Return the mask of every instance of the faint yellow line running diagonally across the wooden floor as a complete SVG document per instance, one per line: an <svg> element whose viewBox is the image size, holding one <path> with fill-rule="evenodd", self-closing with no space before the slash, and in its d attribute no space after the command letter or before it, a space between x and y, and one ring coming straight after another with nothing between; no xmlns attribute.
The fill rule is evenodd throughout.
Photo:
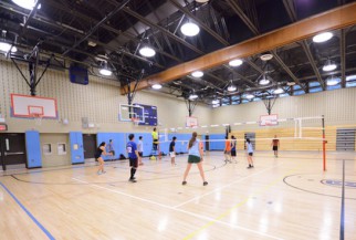
<svg viewBox="0 0 356 240"><path fill-rule="evenodd" d="M281 181L281 179L283 179L286 175L291 175L291 174L295 174L296 170L299 170L301 167L289 170L285 175L283 175L283 177L278 177L275 180L273 180L271 184L269 184L268 186L264 186L261 190L258 190L253 194L251 194L249 197L247 197L245 199L243 199L242 201L238 202L237 205L234 205L233 207L229 208L228 210L223 211L221 215L219 215L218 217L213 218L211 221L209 221L208 223L206 223L205 226L202 226L201 228L197 229L196 231L189 233L187 237L184 238L184 240L189 240L192 239L193 237L196 237L199 232L201 232L202 230L206 230L207 228L211 227L212 225L214 225L217 221L220 221L221 219L223 219L224 217L227 217L231 211L240 208L241 206L243 206L244 204L247 204L250 198L256 196L256 195L262 195L265 194L270 188L274 187L276 184L279 184Z"/></svg>

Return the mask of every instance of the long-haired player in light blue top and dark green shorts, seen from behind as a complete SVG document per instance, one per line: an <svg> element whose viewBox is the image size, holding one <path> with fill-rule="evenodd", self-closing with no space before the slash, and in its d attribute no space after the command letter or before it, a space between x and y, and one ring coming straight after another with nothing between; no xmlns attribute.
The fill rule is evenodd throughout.
<svg viewBox="0 0 356 240"><path fill-rule="evenodd" d="M191 135L191 138L189 140L189 144L188 144L188 154L189 154L189 156L188 156L188 165L187 165L187 169L185 171L184 180L182 180L181 184L187 185L187 176L189 174L191 165L197 164L199 173L200 173L200 176L202 178L202 185L207 186L208 181L206 181L206 177L205 177L203 169L202 169L203 150L202 150L202 145L201 145L200 140L197 138L197 136L198 136L197 133L193 132L192 135Z"/></svg>

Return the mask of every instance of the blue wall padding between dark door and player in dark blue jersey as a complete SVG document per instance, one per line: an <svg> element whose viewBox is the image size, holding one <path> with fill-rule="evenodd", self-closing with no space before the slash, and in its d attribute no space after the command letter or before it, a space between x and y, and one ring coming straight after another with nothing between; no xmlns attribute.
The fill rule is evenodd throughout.
<svg viewBox="0 0 356 240"><path fill-rule="evenodd" d="M100 145L102 142L105 142L107 145L109 139L113 139L114 143L115 156L103 156L104 160L117 159L121 154L127 157L126 143L128 142L128 138L126 136L128 136L128 134L125 133L97 133L97 145ZM107 147L106 150L108 150Z"/></svg>

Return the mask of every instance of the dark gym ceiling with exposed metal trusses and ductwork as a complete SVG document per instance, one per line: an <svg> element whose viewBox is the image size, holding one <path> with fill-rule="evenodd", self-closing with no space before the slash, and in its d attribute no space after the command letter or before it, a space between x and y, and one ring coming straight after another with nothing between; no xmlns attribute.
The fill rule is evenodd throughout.
<svg viewBox="0 0 356 240"><path fill-rule="evenodd" d="M98 74L102 60L107 60L117 80L126 84L138 79L142 70L147 76L349 2L354 1L42 0L41 9L31 13L11 0L2 0L0 29L7 30L7 41L21 49L15 53L18 58L41 42L42 53L55 53L66 67L70 63L82 64ZM197 36L187 38L179 31L187 19L200 25ZM154 58L139 55L138 49L145 43L155 48ZM219 105L226 105L245 102L244 93L269 95L278 85L289 95L299 94L300 88L304 93L335 88L326 86L328 75L355 73L356 28L335 31L326 43L305 40L269 53L274 58L268 62L261 61L260 54L253 55L239 67L214 67L205 71L201 79L186 76L161 91L182 97L196 92L207 104L219 98ZM327 59L338 67L324 74L321 67ZM272 83L262 87L258 80L264 72ZM227 92L230 81L238 86L234 93ZM297 85L289 86L289 82ZM341 81L339 87L345 86L346 81Z"/></svg>

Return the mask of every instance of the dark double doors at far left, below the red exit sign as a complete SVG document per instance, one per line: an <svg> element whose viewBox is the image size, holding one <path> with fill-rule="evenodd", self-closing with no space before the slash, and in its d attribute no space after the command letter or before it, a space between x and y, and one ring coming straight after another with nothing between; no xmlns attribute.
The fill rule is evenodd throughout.
<svg viewBox="0 0 356 240"><path fill-rule="evenodd" d="M3 170L9 165L25 166L24 134L0 134L0 161Z"/></svg>

